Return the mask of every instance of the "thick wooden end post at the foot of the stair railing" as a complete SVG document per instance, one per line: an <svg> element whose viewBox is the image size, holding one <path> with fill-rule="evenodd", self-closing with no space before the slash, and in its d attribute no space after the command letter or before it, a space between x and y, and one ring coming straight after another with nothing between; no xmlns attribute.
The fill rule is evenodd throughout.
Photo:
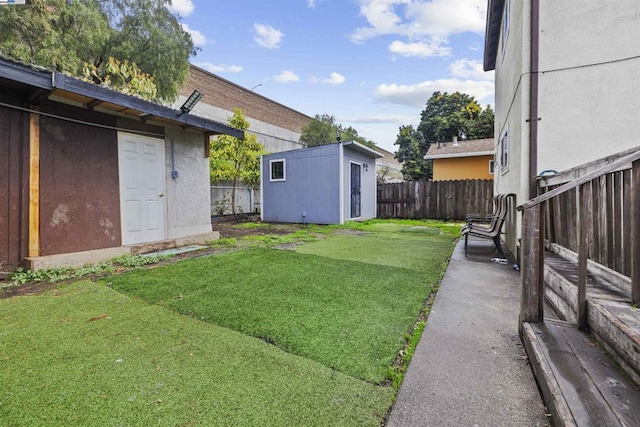
<svg viewBox="0 0 640 427"><path fill-rule="evenodd" d="M544 315L544 204L522 217L522 297L520 322L542 322Z"/></svg>

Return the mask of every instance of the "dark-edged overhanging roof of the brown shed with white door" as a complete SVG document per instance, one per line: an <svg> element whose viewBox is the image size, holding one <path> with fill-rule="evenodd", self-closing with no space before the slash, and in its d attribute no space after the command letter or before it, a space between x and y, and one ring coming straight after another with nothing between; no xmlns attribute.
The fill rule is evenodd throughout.
<svg viewBox="0 0 640 427"><path fill-rule="evenodd" d="M212 135L231 135L244 138L244 132L231 126L125 95L45 68L25 64L0 56L0 85L27 94L30 104L52 97L84 108L103 111L141 121L153 120L197 129Z"/></svg>

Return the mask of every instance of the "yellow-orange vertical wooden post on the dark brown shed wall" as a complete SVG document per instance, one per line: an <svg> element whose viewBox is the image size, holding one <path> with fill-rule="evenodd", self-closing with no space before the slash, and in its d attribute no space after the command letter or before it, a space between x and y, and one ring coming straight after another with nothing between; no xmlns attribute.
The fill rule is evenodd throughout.
<svg viewBox="0 0 640 427"><path fill-rule="evenodd" d="M40 256L40 115L37 112L29 114L29 256Z"/></svg>

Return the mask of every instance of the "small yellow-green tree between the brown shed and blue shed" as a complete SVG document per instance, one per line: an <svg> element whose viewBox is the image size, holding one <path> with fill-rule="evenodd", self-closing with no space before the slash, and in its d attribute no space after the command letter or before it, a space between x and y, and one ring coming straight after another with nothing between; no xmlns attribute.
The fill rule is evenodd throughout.
<svg viewBox="0 0 640 427"><path fill-rule="evenodd" d="M230 180L233 182L231 190L231 212L237 219L236 186L238 182L256 187L260 182L260 158L264 147L257 141L255 135L247 133L249 122L236 108L233 116L227 120L229 125L245 131L244 139L229 135L220 135L211 142L209 168L211 182Z"/></svg>

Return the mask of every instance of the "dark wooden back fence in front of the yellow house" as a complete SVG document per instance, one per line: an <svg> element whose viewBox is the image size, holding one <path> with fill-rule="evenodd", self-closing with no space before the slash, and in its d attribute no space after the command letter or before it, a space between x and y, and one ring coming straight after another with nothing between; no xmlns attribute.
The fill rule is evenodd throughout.
<svg viewBox="0 0 640 427"><path fill-rule="evenodd" d="M493 210L493 180L407 181L378 185L378 218L464 219Z"/></svg>

